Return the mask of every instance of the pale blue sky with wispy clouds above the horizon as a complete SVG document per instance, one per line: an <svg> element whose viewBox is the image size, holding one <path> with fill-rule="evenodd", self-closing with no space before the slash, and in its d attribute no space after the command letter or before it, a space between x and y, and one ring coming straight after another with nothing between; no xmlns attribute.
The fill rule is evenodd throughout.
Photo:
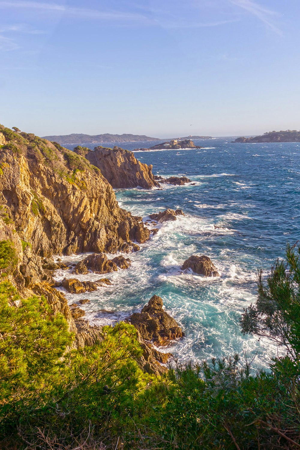
<svg viewBox="0 0 300 450"><path fill-rule="evenodd" d="M0 123L36 135L300 129L299 0L0 0Z"/></svg>

